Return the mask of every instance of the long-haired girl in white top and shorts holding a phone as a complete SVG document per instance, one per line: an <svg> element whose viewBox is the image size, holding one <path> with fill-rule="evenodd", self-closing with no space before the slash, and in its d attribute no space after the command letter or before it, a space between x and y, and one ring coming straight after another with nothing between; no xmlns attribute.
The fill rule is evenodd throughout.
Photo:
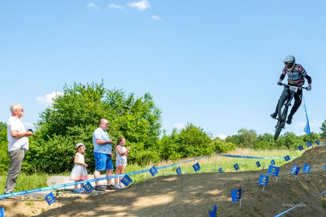
<svg viewBox="0 0 326 217"><path fill-rule="evenodd" d="M130 145L126 148L126 139L119 137L116 145L116 175L124 174L124 170L127 166L127 157L129 154ZM119 182L123 177L119 177ZM119 184L118 177L114 178L115 187L118 189L123 188L122 184Z"/></svg>

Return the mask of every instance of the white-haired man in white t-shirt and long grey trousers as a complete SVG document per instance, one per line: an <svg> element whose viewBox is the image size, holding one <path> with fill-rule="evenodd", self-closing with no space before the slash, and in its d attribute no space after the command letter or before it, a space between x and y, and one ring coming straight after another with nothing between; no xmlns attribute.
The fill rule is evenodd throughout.
<svg viewBox="0 0 326 217"><path fill-rule="evenodd" d="M19 104L10 106L11 117L7 123L8 152L10 156L10 167L5 185L5 194L12 193L16 185L16 179L20 173L21 163L25 156L25 151L29 149L29 136L31 131L27 131L20 121L24 116L24 110ZM20 197L12 196L8 199L17 200Z"/></svg>

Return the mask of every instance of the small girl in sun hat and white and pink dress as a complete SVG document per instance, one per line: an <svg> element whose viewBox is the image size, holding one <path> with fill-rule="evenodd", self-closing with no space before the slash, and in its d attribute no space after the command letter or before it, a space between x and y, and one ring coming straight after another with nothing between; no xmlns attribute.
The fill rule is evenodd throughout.
<svg viewBox="0 0 326 217"><path fill-rule="evenodd" d="M87 170L86 167L88 167L87 164L85 164L85 152L86 146L82 142L78 142L76 144L76 154L75 154L75 165L73 166L71 173L70 173L70 180L74 181L84 181L88 179ZM83 190L83 183L80 184L80 189L78 189L78 184L75 184L75 191L74 193L84 193Z"/></svg>

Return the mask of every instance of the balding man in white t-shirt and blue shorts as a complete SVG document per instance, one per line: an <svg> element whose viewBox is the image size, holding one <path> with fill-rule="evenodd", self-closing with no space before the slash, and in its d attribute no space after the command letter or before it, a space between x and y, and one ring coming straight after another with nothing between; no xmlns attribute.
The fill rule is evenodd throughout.
<svg viewBox="0 0 326 217"><path fill-rule="evenodd" d="M110 139L106 130L108 128L108 121L106 119L100 120L99 127L93 133L93 145L94 145L94 157L95 157L95 171L94 178L99 178L101 171L105 171L106 176L111 176L113 172L112 163L112 143L113 140ZM107 185L106 190L117 189L113 184L111 178L106 179ZM96 191L105 191L101 187L99 181L95 181Z"/></svg>

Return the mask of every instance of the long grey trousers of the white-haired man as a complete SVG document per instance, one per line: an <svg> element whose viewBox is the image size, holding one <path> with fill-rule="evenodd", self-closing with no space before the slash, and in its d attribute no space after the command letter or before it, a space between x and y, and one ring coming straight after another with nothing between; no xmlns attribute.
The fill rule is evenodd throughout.
<svg viewBox="0 0 326 217"><path fill-rule="evenodd" d="M25 157L25 150L19 148L17 150L9 151L9 156L10 167L5 185L5 194L12 193L14 191L16 180L20 173L21 163Z"/></svg>

